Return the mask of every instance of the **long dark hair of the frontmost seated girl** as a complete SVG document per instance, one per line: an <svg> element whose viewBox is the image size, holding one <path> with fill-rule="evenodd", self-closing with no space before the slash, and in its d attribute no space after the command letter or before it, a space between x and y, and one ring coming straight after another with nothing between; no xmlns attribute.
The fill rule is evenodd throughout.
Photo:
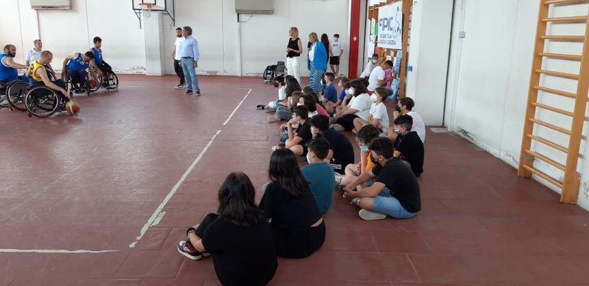
<svg viewBox="0 0 589 286"><path fill-rule="evenodd" d="M255 189L243 172L232 172L227 176L218 192L217 213L233 224L252 226L262 218L262 210L253 203Z"/></svg>

